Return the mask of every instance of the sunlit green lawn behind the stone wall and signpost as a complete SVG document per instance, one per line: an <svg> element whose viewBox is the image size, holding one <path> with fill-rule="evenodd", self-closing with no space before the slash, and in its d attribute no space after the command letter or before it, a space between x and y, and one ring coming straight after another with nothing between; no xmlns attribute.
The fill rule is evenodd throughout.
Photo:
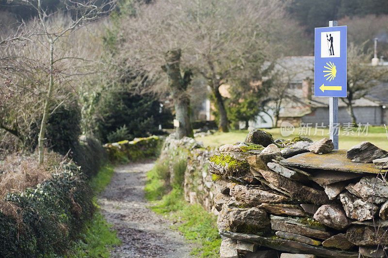
<svg viewBox="0 0 388 258"><path fill-rule="evenodd" d="M361 128L362 130L364 127ZM295 136L306 136L306 128L295 128L295 131L293 134L291 134L288 137L283 137L280 134L280 128L273 128L273 129L265 129L267 132L270 132L274 138L283 138L283 139L291 139ZM360 143L361 141L370 141L374 145L388 150L388 139L386 135L386 131L384 126L370 126L368 128L367 135L366 132L361 132L358 136L358 133L356 132L357 128L353 129L353 132L350 132L349 134L347 132L343 131L343 128L340 128L340 134L339 134L339 149L347 150L350 147ZM361 130L361 131L362 131ZM307 134L308 137L312 138L313 140L319 140L323 137L328 137L329 130L324 129L323 135L322 132L318 129L315 130L315 128L311 128L310 133ZM354 135L352 135L352 133ZM229 133L220 133L217 132L213 135L205 136L205 137L196 137L195 139L197 141L202 141L205 146L219 146L223 144L233 144L238 141L243 141L248 134L247 130L233 130ZM314 135L315 134L315 135Z"/></svg>

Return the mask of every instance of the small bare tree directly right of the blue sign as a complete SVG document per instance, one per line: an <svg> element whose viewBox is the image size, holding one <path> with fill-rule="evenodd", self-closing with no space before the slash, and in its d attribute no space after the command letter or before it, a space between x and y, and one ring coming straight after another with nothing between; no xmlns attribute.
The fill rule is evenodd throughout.
<svg viewBox="0 0 388 258"><path fill-rule="evenodd" d="M356 124L353 111L354 101L368 94L379 81L387 81L388 70L385 67L371 66L371 53L364 53L364 44L348 47L347 97L341 98L346 104L352 123Z"/></svg>

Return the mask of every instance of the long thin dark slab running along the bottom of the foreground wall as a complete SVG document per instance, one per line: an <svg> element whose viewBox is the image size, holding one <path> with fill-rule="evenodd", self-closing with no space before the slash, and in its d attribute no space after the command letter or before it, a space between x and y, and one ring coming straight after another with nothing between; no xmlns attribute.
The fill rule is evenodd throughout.
<svg viewBox="0 0 388 258"><path fill-rule="evenodd" d="M325 247L312 246L306 243L276 238L266 238L258 235L234 233L227 230L220 231L220 235L244 242L258 243L259 246L295 254L312 254L328 258L358 258L358 252L333 250Z"/></svg>

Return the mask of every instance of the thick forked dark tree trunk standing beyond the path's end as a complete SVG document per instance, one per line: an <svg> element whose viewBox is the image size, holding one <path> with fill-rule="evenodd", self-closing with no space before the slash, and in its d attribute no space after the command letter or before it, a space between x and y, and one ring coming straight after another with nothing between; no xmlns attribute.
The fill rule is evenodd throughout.
<svg viewBox="0 0 388 258"><path fill-rule="evenodd" d="M162 67L168 76L168 85L174 100L175 118L179 121L179 126L176 129L178 139L194 136L189 116L190 99L186 92L191 81L191 72L186 71L182 77L180 56L180 49L168 51L165 56L166 64Z"/></svg>

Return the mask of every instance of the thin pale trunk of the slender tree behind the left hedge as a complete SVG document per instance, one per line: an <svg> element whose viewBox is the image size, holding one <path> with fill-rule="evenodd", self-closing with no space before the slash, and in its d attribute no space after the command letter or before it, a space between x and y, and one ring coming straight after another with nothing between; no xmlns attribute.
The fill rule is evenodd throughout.
<svg viewBox="0 0 388 258"><path fill-rule="evenodd" d="M50 42L49 91L47 92L45 106L43 107L43 118L40 124L40 131L39 131L39 137L38 137L39 164L43 164L44 157L45 157L44 141L45 141L46 123L47 123L47 120L49 119L49 105L50 105L49 102L54 88L54 75L52 74L52 65L54 62L54 59L53 59L54 43L52 42L52 40L50 40L49 42Z"/></svg>

